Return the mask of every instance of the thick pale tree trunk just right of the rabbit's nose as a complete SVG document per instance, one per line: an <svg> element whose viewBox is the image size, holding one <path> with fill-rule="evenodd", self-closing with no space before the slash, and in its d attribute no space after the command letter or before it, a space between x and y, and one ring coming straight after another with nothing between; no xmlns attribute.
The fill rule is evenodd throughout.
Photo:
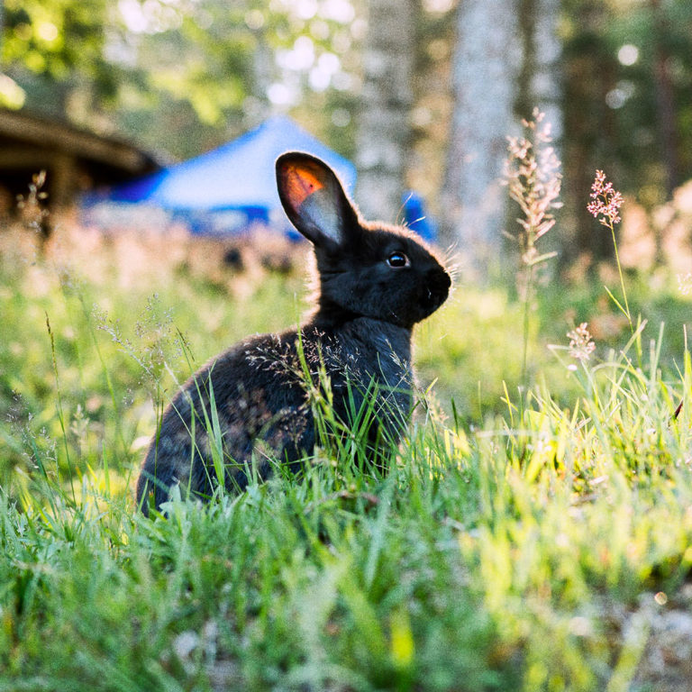
<svg viewBox="0 0 692 692"><path fill-rule="evenodd" d="M513 122L515 15L514 0L463 0L457 10L442 241L481 261L499 249L505 222L500 178Z"/></svg>

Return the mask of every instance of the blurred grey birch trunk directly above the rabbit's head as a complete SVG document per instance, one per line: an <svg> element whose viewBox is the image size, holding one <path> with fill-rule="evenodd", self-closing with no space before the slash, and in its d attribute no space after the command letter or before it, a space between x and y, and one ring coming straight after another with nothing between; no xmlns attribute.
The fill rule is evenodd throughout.
<svg viewBox="0 0 692 692"><path fill-rule="evenodd" d="M366 218L396 222L411 146L414 0L369 0L358 115L356 201Z"/></svg>

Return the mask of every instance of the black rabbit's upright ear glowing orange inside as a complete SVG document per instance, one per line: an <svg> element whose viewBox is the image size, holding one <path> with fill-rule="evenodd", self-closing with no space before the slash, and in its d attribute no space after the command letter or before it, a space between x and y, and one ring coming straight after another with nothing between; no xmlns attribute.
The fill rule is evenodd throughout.
<svg viewBox="0 0 692 692"><path fill-rule="evenodd" d="M289 151L277 159L277 187L288 218L308 241L318 247L344 243L357 215L332 168Z"/></svg>

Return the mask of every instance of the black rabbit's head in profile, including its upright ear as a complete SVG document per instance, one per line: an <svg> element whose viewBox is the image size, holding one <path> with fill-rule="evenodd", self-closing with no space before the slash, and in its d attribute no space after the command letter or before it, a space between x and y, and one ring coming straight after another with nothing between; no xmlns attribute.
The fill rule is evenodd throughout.
<svg viewBox="0 0 692 692"><path fill-rule="evenodd" d="M445 301L451 279L442 260L405 228L362 221L322 160L282 154L277 185L291 223L314 245L323 319L365 316L412 327Z"/></svg>

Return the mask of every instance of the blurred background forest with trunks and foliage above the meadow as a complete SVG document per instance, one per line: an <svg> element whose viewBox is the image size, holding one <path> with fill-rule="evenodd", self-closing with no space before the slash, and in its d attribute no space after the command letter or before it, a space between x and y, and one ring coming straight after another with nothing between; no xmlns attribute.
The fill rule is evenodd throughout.
<svg viewBox="0 0 692 692"><path fill-rule="evenodd" d="M445 244L499 247L505 136L534 106L565 162L563 266L612 252L596 168L636 202L646 269L692 178L687 0L5 0L1 36L6 108L164 163L287 113L356 163L366 215L394 221L413 188Z"/></svg>

